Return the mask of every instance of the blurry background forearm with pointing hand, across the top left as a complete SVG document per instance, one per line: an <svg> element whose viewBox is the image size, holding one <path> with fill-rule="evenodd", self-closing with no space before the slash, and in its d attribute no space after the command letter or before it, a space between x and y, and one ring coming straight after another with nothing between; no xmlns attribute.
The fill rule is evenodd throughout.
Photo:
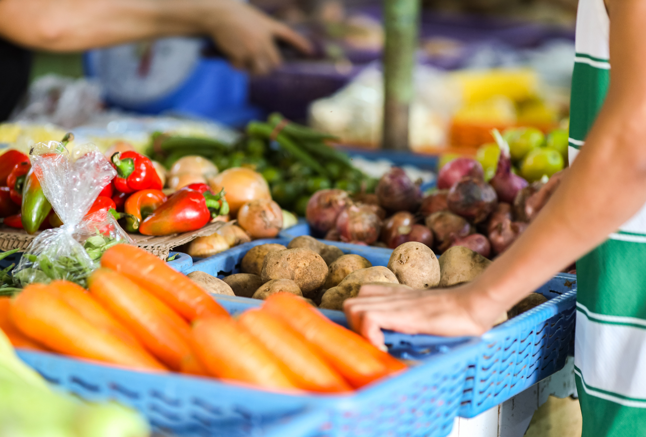
<svg viewBox="0 0 646 437"><path fill-rule="evenodd" d="M234 66L264 73L280 63L274 39L308 52L286 25L238 0L0 0L0 36L52 51L163 36L211 36Z"/></svg>

